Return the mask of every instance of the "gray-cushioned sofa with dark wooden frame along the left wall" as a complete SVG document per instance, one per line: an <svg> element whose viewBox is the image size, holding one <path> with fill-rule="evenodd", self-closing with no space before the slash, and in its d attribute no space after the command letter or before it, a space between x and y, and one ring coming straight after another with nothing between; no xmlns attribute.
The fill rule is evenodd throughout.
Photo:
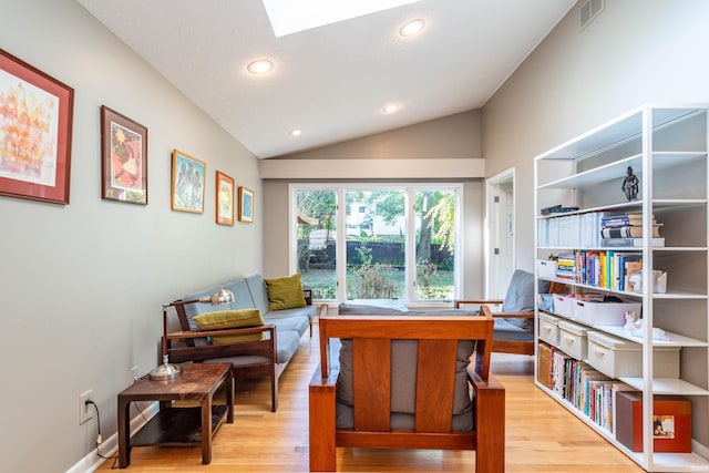
<svg viewBox="0 0 709 473"><path fill-rule="evenodd" d="M237 278L218 286L187 294L182 300L199 299L201 297L209 296L222 288L228 289L234 294L234 302L223 306L210 306L208 304L175 306L181 329L183 331L199 331L199 327L194 320L194 317L202 313L249 308L258 309L264 317L264 327L273 326L275 328L273 331L274 357L269 356L268 351L259 352L251 350L253 353L256 354L245 351L243 354L214 357L201 359L198 361L212 363L230 362L234 366L234 374L237 380L270 376L271 410L275 412L277 410L278 399L278 378L298 350L300 338L304 333L309 330L310 336L312 336L312 321L316 318L317 308L312 305L306 305L306 307L296 309L269 310L268 294L261 275ZM308 299L309 298L306 300L309 301ZM209 339L191 339L188 345L209 345ZM244 345L246 346L247 343ZM275 360L271 361L271 358L275 358Z"/></svg>

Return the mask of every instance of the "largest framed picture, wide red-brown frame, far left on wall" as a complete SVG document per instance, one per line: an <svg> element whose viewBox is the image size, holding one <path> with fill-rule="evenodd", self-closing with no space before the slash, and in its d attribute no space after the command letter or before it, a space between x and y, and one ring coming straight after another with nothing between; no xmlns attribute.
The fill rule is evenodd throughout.
<svg viewBox="0 0 709 473"><path fill-rule="evenodd" d="M74 90L0 49L0 195L69 204Z"/></svg>

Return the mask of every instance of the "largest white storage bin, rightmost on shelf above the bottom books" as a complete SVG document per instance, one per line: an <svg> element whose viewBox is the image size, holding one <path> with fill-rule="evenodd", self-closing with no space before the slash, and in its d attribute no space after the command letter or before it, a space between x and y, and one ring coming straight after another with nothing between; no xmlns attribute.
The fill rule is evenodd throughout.
<svg viewBox="0 0 709 473"><path fill-rule="evenodd" d="M589 330L588 364L612 378L643 377L643 346L607 333ZM679 348L655 347L653 376L679 378Z"/></svg>

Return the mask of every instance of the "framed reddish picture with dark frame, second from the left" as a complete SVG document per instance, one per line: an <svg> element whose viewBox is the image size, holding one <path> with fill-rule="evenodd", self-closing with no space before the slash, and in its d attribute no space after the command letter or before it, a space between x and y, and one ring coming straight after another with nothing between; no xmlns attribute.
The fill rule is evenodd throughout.
<svg viewBox="0 0 709 473"><path fill-rule="evenodd" d="M147 128L101 106L101 197L147 205Z"/></svg>

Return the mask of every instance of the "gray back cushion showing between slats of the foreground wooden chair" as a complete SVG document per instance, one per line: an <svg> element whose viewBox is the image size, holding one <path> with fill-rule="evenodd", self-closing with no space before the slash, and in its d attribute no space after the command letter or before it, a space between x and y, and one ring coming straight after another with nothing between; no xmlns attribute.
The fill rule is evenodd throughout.
<svg viewBox="0 0 709 473"><path fill-rule="evenodd" d="M353 405L352 340L342 339L340 343L337 400ZM453 414L465 412L472 408L466 368L474 348L475 342L471 340L458 343ZM417 340L392 340L391 342L391 412L415 413L418 351L419 342Z"/></svg>

